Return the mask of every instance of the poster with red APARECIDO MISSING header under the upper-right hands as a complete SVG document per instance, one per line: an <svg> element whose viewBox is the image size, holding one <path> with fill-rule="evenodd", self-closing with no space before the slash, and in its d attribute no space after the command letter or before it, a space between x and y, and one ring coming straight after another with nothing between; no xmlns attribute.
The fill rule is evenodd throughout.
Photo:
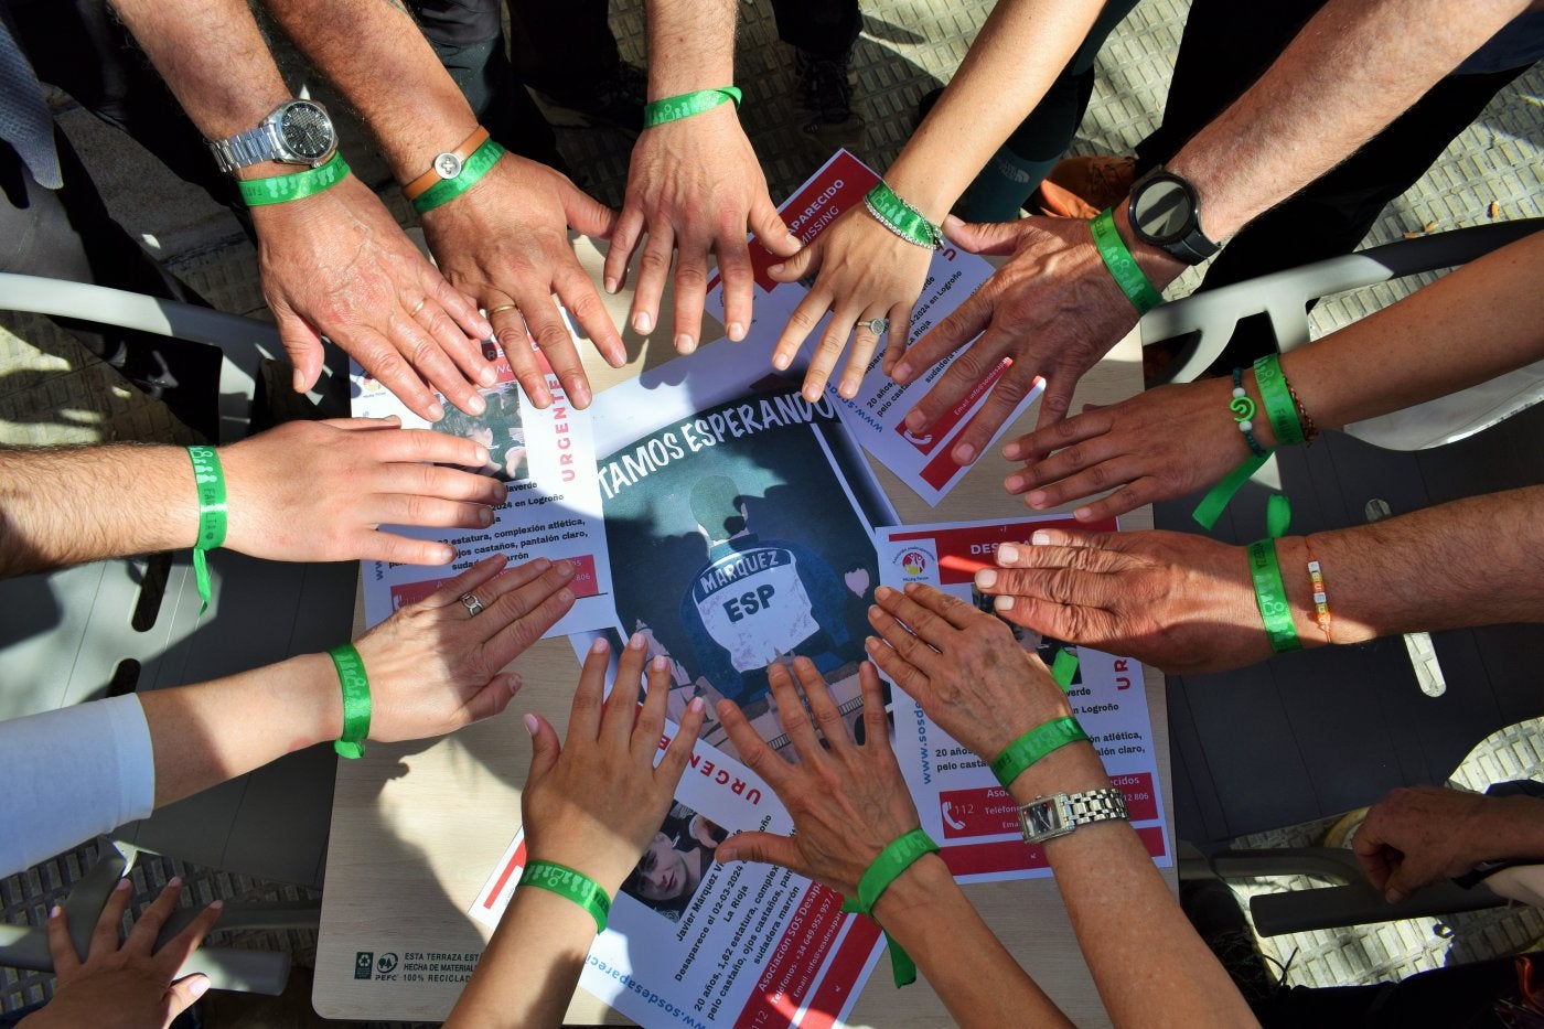
<svg viewBox="0 0 1544 1029"><path fill-rule="evenodd" d="M798 236L801 244L809 246L837 215L862 209L863 195L879 181L879 175L872 168L846 150L840 150L778 212L781 212L783 221L787 222L789 232ZM858 216L868 215L863 213ZM750 256L757 289L755 318L746 345L764 341L770 346L781 335L789 315L794 314L804 298L809 281L777 283L766 270L777 258L760 246L750 247ZM991 277L991 264L973 253L951 246L937 250L928 269L928 280L911 312L908 348L916 345L929 329L965 303ZM715 277L710 286L709 303L723 314L723 284ZM826 320L821 320L809 334L803 354L814 349L824 326ZM831 385L826 386L826 397L835 405L841 420L865 450L900 476L900 481L911 487L917 496L928 504L937 504L970 470L970 465L957 464L950 453L954 450L954 443L965 431L965 426L985 405L987 394L991 392L991 388L1008 369L1008 362L1004 360L993 368L954 408L946 411L922 434L913 434L905 423L906 413L937 385L943 372L954 363L954 357L965 348L962 346L954 354L943 357L914 382L903 386L891 380L880 366L885 357L883 345L888 341L886 338L882 341L882 346L875 348L874 355L869 358L868 371L863 375L863 383L852 400L841 399L835 389L835 383L840 382L840 369L846 363L846 355L843 354ZM795 363L795 368L801 366ZM1034 389L1030 391L1004 422L1004 428L1011 425L1039 397L1042 383L1039 380L1036 383ZM997 431L997 436L1001 434L1002 430Z"/></svg>

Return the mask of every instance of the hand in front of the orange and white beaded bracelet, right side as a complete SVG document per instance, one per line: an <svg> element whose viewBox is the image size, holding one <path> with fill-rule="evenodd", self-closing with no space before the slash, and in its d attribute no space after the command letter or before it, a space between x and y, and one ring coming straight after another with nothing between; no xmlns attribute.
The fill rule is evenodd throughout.
<svg viewBox="0 0 1544 1029"><path fill-rule="evenodd" d="M1271 657L1249 556L1194 533L1036 528L1028 547L997 547L997 567L977 572L976 589L1017 626L1164 672L1221 672Z"/></svg>

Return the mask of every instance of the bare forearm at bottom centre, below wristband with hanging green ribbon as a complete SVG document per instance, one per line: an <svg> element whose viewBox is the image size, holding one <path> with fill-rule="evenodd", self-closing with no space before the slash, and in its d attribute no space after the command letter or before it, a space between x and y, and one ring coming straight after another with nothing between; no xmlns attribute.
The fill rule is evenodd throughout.
<svg viewBox="0 0 1544 1029"><path fill-rule="evenodd" d="M874 918L917 963L956 1023L1070 1024L980 921L937 856L902 873L874 905Z"/></svg>

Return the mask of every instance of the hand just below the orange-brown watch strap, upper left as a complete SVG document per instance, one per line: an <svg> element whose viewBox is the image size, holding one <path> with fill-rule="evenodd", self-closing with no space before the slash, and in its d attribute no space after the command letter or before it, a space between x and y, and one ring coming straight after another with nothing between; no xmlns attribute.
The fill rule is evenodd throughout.
<svg viewBox="0 0 1544 1029"><path fill-rule="evenodd" d="M539 408L548 406L553 396L527 329L573 405L587 408L591 399L590 380L553 294L611 368L627 360L622 337L568 244L570 226L605 238L613 224L611 212L565 175L513 153L503 155L474 188L423 216L423 235L445 277L488 312L491 335Z"/></svg>

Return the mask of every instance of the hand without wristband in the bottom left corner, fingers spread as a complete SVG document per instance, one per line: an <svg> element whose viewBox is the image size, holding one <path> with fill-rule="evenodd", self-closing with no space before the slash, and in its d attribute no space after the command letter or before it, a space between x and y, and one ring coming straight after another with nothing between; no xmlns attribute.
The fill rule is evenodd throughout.
<svg viewBox="0 0 1544 1029"><path fill-rule="evenodd" d="M117 930L134 895L128 879L119 879L113 887L91 933L85 961L76 953L69 939L69 919L63 908L54 907L49 912L48 952L54 958L59 987L43 1010L22 1020L26 1029L165 1027L208 990L207 975L185 975L181 980L174 976L213 929L222 902L215 901L205 907L182 932L156 947L161 927L176 910L178 895L182 891L182 881L171 879L119 946Z"/></svg>

